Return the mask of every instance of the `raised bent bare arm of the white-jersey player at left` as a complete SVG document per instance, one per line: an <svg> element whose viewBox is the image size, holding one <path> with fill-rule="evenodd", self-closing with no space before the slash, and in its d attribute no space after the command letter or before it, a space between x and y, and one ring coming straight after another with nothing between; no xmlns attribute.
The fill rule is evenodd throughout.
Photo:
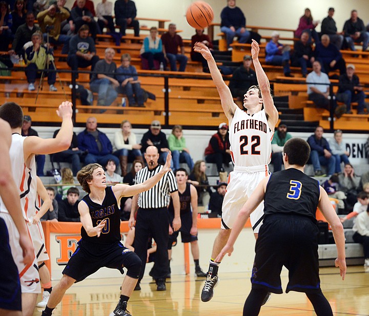
<svg viewBox="0 0 369 316"><path fill-rule="evenodd" d="M73 136L72 103L68 101L61 103L56 113L63 120L60 131L54 139L26 137L23 145L25 161L31 154L50 154L67 150L70 147Z"/></svg>

